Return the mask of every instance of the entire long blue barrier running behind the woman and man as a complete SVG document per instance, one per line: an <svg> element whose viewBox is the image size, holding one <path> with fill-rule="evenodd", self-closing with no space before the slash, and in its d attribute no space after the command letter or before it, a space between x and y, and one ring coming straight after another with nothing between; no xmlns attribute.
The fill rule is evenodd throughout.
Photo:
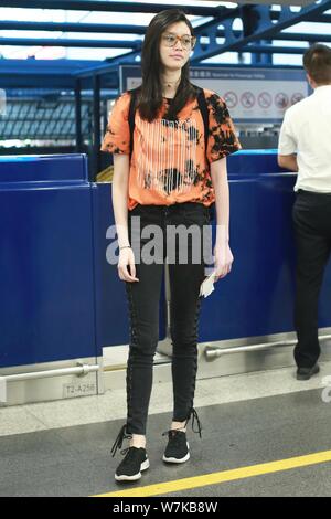
<svg viewBox="0 0 331 519"><path fill-rule="evenodd" d="M293 173L275 150L228 158L234 265L203 301L200 341L292 331ZM117 265L106 261L111 184L81 155L0 158L0 367L100 357L129 340ZM213 229L213 232L215 229ZM160 339L166 337L164 285ZM331 268L320 326L331 326Z"/></svg>

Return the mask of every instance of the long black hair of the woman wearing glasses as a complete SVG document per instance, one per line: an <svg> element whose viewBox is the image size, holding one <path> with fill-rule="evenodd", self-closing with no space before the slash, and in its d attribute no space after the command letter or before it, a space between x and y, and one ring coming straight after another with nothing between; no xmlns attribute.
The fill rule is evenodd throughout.
<svg viewBox="0 0 331 519"><path fill-rule="evenodd" d="M169 25L177 22L186 23L191 35L193 27L185 13L179 9L167 9L159 12L150 22L141 50L142 84L137 96L137 108L142 119L151 123L158 116L162 106L161 73L163 65L160 57L160 41ZM177 114L185 106L189 99L196 97L196 88L190 83L189 60L181 70L181 81L175 97L169 106L164 118L174 120Z"/></svg>

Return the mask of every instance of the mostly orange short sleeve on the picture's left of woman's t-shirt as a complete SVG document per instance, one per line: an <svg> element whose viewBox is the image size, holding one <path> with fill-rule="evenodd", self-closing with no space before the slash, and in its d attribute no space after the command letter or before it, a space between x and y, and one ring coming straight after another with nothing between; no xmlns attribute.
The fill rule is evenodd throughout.
<svg viewBox="0 0 331 519"><path fill-rule="evenodd" d="M115 102L109 113L106 134L102 144L102 151L109 153L130 155L130 128L129 128L130 95L122 94Z"/></svg>

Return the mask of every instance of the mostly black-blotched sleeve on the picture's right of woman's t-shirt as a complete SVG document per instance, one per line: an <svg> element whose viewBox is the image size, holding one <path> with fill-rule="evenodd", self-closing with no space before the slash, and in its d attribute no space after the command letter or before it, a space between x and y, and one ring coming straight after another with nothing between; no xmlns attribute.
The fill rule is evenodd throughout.
<svg viewBox="0 0 331 519"><path fill-rule="evenodd" d="M205 92L205 99L210 116L206 157L210 162L214 162L242 149L242 146L225 100L211 91Z"/></svg>

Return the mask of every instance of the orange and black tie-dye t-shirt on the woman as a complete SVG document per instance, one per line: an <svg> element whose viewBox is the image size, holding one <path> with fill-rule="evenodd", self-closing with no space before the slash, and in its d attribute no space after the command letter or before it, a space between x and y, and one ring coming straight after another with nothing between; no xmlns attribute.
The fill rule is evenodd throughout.
<svg viewBox="0 0 331 519"><path fill-rule="evenodd" d="M209 139L205 151L204 123L197 99L190 100L168 120L168 99L152 123L135 115L134 151L129 171L128 209L142 205L170 205L199 202L209 206L215 201L210 162L241 149L225 102L204 89L209 108ZM109 115L103 151L130 155L130 94L117 98Z"/></svg>

